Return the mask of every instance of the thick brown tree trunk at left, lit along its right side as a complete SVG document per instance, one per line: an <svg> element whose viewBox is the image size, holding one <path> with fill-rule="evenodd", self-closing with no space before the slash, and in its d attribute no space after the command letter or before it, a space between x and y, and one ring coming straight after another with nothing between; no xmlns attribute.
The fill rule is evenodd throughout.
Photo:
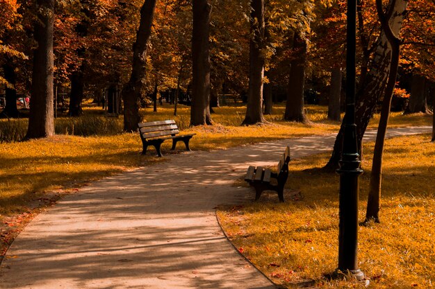
<svg viewBox="0 0 435 289"><path fill-rule="evenodd" d="M35 20L31 107L26 139L54 135L54 0L38 0Z"/></svg>

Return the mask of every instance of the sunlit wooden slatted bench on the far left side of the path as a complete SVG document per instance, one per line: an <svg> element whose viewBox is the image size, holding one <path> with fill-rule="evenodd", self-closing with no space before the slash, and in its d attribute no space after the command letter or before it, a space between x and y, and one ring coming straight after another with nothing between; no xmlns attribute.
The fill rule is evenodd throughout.
<svg viewBox="0 0 435 289"><path fill-rule="evenodd" d="M148 146L156 148L158 157L162 156L160 150L161 144L166 139L172 139L172 148L175 150L177 141L183 141L186 144L186 150L190 150L189 141L195 134L181 134L174 120L169 121L151 121L149 123L138 123L140 139L142 139L142 155L147 153Z"/></svg>

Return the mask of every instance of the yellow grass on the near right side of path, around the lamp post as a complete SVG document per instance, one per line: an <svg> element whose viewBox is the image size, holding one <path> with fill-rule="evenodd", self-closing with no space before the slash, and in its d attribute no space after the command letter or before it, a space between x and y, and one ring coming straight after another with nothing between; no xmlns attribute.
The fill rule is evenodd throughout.
<svg viewBox="0 0 435 289"><path fill-rule="evenodd" d="M364 150L360 216L365 216L373 143ZM217 216L231 242L273 281L315 280L320 288L365 288L366 283L326 281L338 258L338 175L307 170L329 155L290 162L287 186L297 195L227 207ZM429 135L386 141L381 224L359 229L359 266L368 288L432 287L435 281L435 143ZM305 171L304 171L305 170ZM293 286L293 287L292 287Z"/></svg>

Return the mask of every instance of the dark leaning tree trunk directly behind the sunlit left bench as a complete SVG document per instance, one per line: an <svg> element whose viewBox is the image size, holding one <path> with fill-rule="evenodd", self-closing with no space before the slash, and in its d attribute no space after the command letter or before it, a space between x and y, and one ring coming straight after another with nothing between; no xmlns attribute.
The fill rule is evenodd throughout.
<svg viewBox="0 0 435 289"><path fill-rule="evenodd" d="M140 122L139 100L145 82L145 67L156 0L145 0L140 9L140 24L133 44L133 62L129 82L122 89L124 99L124 131L135 132Z"/></svg>

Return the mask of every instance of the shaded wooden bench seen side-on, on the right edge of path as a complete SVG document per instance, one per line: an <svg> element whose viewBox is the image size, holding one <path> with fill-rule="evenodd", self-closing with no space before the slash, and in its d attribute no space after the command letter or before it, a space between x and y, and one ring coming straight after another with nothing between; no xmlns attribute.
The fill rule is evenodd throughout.
<svg viewBox="0 0 435 289"><path fill-rule="evenodd" d="M280 202L284 202L284 185L288 178L288 163L290 162L290 148L287 147L281 160L279 160L277 173L268 168L249 166L245 182L255 189L255 200L258 200L263 191L276 191ZM272 184L272 179L274 183Z"/></svg>

